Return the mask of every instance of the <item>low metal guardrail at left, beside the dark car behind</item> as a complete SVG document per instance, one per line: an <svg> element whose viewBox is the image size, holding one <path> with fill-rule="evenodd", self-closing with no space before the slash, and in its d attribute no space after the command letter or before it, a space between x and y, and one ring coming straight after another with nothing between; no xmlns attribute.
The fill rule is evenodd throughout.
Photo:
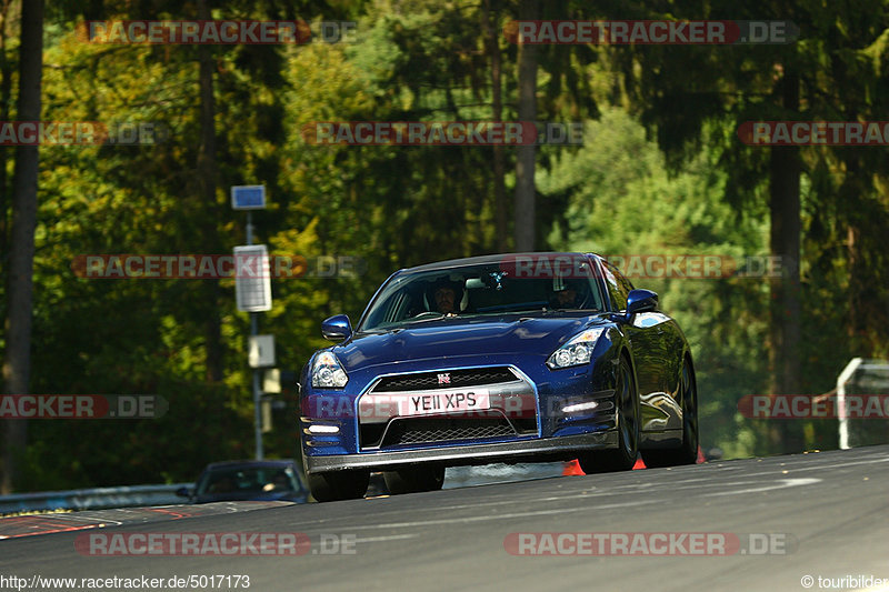
<svg viewBox="0 0 889 592"><path fill-rule="evenodd" d="M172 485L129 485L0 495L0 514L47 510L170 505L186 502L183 498L176 494L176 490L192 486L194 483L174 483Z"/></svg>

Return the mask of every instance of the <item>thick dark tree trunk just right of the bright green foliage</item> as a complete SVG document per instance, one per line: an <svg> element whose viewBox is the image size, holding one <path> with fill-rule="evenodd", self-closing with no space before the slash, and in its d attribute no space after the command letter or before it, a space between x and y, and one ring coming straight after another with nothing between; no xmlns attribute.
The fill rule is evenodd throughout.
<svg viewBox="0 0 889 592"><path fill-rule="evenodd" d="M777 89L785 113L799 111L799 77L787 72ZM800 173L797 147L772 147L769 160L769 213L771 254L779 257L783 273L771 283L770 375L771 392L800 394ZM799 421L782 421L772 430L772 452L803 449Z"/></svg>

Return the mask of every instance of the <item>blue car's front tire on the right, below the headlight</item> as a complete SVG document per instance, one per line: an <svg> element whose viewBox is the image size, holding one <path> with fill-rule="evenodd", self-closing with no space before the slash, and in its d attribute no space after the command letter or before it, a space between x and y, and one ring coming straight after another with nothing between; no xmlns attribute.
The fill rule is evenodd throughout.
<svg viewBox="0 0 889 592"><path fill-rule="evenodd" d="M639 393L630 363L621 355L618 380L615 385L617 407L618 448L596 450L578 456L580 468L587 474L629 471L639 455Z"/></svg>

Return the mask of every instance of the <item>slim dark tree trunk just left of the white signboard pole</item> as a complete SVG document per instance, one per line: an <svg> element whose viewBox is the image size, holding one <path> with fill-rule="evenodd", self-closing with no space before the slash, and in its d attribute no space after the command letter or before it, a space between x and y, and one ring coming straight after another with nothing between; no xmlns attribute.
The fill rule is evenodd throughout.
<svg viewBox="0 0 889 592"><path fill-rule="evenodd" d="M206 0L198 2L198 18L210 20L210 10ZM216 100L213 98L213 54L210 46L199 46L200 60L200 98L201 98L201 147L198 153L198 174L200 177L203 215L203 243L213 249L220 248L218 231L218 208L216 203L217 162L216 162ZM211 305L209 317L204 321L204 342L207 349L207 380L221 382L223 368L222 329L219 320L219 280L206 280L202 287L206 301Z"/></svg>

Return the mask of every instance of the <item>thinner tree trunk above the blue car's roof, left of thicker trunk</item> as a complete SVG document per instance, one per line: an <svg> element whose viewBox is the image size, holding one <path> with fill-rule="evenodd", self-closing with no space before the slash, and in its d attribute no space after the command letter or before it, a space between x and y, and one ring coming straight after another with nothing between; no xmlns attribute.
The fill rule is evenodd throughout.
<svg viewBox="0 0 889 592"><path fill-rule="evenodd" d="M501 74L500 43L497 30L499 21L499 7L491 7L492 0L485 0L482 18L485 20L486 41L488 53L491 56L491 111L493 121L503 120L503 97ZM497 251L503 253L509 248L507 244L507 188L506 188L506 160L503 147L493 146L493 211L495 228L497 233Z"/></svg>

